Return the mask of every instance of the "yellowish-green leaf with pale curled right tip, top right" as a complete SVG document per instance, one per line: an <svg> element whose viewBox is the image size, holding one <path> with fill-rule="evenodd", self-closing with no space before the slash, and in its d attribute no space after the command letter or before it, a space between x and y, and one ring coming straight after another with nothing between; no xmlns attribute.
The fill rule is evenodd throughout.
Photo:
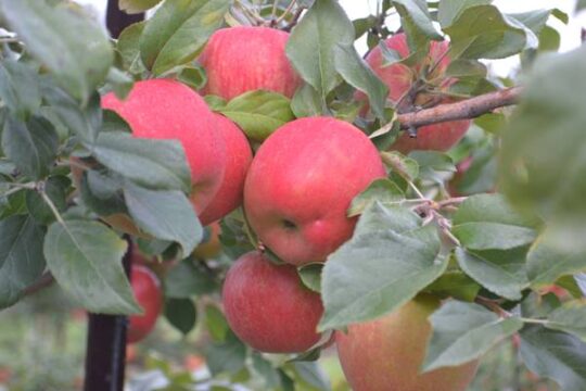
<svg viewBox="0 0 586 391"><path fill-rule="evenodd" d="M446 27L453 59L504 59L532 47L531 33L522 23L507 17L494 5L467 8Z"/></svg>

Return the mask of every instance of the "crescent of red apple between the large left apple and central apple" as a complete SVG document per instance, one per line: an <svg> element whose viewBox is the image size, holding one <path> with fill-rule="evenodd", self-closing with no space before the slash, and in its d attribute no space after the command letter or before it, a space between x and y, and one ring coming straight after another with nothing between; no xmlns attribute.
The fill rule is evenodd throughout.
<svg viewBox="0 0 586 391"><path fill-rule="evenodd" d="M216 127L226 144L226 171L219 190L200 214L206 226L216 222L242 204L244 179L252 162L252 150L242 130L227 117L214 114Z"/></svg>

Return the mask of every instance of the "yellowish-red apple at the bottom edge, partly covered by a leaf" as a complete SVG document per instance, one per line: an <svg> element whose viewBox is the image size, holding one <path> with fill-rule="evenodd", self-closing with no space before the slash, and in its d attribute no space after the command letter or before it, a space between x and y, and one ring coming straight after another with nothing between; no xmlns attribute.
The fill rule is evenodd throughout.
<svg viewBox="0 0 586 391"><path fill-rule="evenodd" d="M354 391L464 391L474 378L477 362L419 375L431 325L428 316L440 305L419 295L380 319L336 331L344 375Z"/></svg>

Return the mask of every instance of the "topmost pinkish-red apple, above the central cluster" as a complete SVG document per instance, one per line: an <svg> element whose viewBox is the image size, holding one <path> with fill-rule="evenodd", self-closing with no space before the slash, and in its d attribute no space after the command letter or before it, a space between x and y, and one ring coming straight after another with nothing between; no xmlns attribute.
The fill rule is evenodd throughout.
<svg viewBox="0 0 586 391"><path fill-rule="evenodd" d="M288 40L288 33L268 27L217 30L199 58L207 74L204 94L230 100L264 89L293 97L302 79L285 55Z"/></svg>

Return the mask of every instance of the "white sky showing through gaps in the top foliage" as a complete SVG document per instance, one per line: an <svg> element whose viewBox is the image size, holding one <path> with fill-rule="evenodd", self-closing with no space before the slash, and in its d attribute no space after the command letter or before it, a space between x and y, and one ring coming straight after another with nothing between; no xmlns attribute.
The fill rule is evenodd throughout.
<svg viewBox="0 0 586 391"><path fill-rule="evenodd" d="M105 18L105 8L107 0L76 0L78 3L91 5L94 8L97 14L101 21ZM370 14L374 14L377 11L378 0L339 0L340 4L344 8L346 13L352 20L365 17ZM493 4L498 7L506 13L526 12L538 9L552 9L559 8L564 11L570 17L570 23L563 25L561 22L555 18L550 18L548 24L556 27L561 33L561 51L569 51L577 48L581 45L581 29L586 27L586 11L582 14L573 15L573 10L576 0L494 0ZM398 26L398 20L388 21L392 26L396 24ZM367 50L366 37L359 40L357 43L359 52L364 53ZM517 58L491 61L488 62L492 71L499 76L507 76L519 63Z"/></svg>

